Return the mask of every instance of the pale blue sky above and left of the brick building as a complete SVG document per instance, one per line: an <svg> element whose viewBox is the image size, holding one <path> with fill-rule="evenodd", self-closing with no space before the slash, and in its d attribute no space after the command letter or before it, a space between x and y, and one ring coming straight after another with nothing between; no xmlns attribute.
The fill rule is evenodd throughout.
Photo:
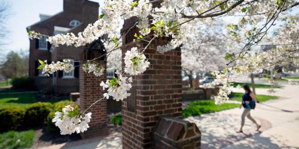
<svg viewBox="0 0 299 149"><path fill-rule="evenodd" d="M63 9L63 0L4 0L10 5L10 16L6 21L7 34L5 46L0 50L1 55L9 51L27 52L29 38L26 27L40 20L39 14L56 14ZM91 0L103 5L104 0ZM100 9L99 9L100 10Z"/></svg>

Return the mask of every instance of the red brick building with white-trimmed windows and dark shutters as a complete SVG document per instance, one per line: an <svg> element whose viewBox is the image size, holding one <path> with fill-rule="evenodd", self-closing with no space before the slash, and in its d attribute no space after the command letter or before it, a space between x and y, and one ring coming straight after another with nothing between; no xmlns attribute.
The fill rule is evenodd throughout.
<svg viewBox="0 0 299 149"><path fill-rule="evenodd" d="M78 33L84 30L89 24L95 22L99 15L99 4L88 0L63 0L63 11L52 16L40 14L40 21L28 26L26 29L34 30L44 35L53 36L56 34L73 32ZM46 41L46 36L41 39L30 40L29 55L29 76L35 78L35 86L39 90L56 93L70 93L79 91L79 67L70 73L63 71L47 77L37 70L38 60L71 61L80 60L80 53L84 47L74 46L51 46ZM86 48L86 47L85 47ZM74 62L75 66L79 63Z"/></svg>

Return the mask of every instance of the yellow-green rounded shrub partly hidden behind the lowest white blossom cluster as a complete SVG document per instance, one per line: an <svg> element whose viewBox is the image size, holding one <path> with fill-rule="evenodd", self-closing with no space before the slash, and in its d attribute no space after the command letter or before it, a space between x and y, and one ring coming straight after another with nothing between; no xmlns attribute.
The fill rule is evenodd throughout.
<svg viewBox="0 0 299 149"><path fill-rule="evenodd" d="M55 124L52 122L52 119L55 116L55 112L56 111L62 111L62 108L64 108L67 105L70 104L76 104L73 101L69 101L69 100L64 100L64 101L59 101L53 104L53 108L51 110L51 112L49 113L49 115L47 116L47 130L49 132L59 132L59 128L55 126ZM78 108L78 106L76 106L76 108Z"/></svg>

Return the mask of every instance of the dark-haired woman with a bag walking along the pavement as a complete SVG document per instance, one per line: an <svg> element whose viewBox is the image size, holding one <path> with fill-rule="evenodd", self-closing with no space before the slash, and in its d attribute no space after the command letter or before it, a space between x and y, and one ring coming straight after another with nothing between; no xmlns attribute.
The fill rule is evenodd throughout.
<svg viewBox="0 0 299 149"><path fill-rule="evenodd" d="M251 108L248 107L248 105L250 104L250 101L254 101L255 103L257 103L257 98L255 96L255 94L250 90L248 85L244 85L243 86L245 93L243 95L243 100L242 103L240 104L240 109L243 106L244 107L244 111L242 113L242 117L241 117L241 128L238 131L238 133L243 133L243 126L245 123L245 117L247 116L248 119L250 119L253 123L256 124L257 126L257 131L259 131L259 129L261 128L261 125L258 125L258 123L251 117L250 115L250 110Z"/></svg>

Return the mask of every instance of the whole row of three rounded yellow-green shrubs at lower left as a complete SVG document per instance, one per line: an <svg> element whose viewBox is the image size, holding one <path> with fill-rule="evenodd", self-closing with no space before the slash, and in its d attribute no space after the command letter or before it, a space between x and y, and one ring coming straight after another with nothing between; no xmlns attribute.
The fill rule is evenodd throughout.
<svg viewBox="0 0 299 149"><path fill-rule="evenodd" d="M62 111L66 105L74 104L75 102L65 100L54 104L49 102L36 102L29 105L27 108L18 106L5 106L0 108L0 131L13 130L19 126L42 126L47 125L50 132L59 132L58 127L54 125L52 119L56 111ZM79 108L77 105L75 108Z"/></svg>

